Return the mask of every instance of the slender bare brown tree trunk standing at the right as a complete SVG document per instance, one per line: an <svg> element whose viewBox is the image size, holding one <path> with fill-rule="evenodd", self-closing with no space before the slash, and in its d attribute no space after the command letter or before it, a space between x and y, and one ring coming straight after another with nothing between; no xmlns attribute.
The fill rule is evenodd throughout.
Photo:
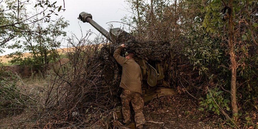
<svg viewBox="0 0 258 129"><path fill-rule="evenodd" d="M229 27L228 27L228 46L230 53L230 61L232 65L232 76L231 76L231 105L232 105L232 116L235 122L237 121L238 109L236 99L236 80L237 80L237 63L235 57L234 43L233 43L233 0L229 0L230 16L229 16Z"/></svg>

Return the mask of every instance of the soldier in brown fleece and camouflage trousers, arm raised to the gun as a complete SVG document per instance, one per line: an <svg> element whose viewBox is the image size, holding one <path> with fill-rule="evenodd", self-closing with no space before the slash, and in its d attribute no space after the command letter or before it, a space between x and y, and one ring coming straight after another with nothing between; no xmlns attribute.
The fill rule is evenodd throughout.
<svg viewBox="0 0 258 129"><path fill-rule="evenodd" d="M129 124L130 120L130 107L129 104L132 103L133 110L135 111L135 124L136 128L143 129L143 124L145 123L145 118L143 115L144 101L142 99L142 72L140 66L133 59L135 52L128 51L125 57L120 56L120 52L125 47L124 44L118 46L114 52L114 58L116 61L122 65L122 79L120 82L120 87L123 88L121 97L122 102L122 113L124 118L124 123Z"/></svg>

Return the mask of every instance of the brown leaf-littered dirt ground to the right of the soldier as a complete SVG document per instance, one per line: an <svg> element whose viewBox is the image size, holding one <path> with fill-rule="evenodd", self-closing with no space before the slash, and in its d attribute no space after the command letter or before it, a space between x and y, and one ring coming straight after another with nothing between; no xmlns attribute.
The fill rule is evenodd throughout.
<svg viewBox="0 0 258 129"><path fill-rule="evenodd" d="M152 100L145 106L147 129L216 129L216 116L198 111L198 102L191 96L176 95Z"/></svg>

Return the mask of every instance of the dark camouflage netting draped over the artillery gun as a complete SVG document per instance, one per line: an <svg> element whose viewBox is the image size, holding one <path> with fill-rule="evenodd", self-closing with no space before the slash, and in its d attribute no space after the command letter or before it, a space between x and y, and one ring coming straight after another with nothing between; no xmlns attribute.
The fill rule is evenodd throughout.
<svg viewBox="0 0 258 129"><path fill-rule="evenodd" d="M171 76L171 78L167 79L172 79L172 77L174 77L174 79L176 78L177 60L173 60L176 58L176 55L174 51L170 49L169 43L154 41L136 42L134 40L126 44L129 45L129 47L126 48L135 50L140 58L146 59L147 61L167 62L170 69L167 74ZM104 45L101 48L100 54L92 59L101 62L99 70L102 69L101 76L103 77L103 83L109 86L119 86L121 79L121 70L119 70L121 67L118 66L118 63L113 58L113 53L117 46L118 45ZM123 51L121 53L123 53ZM173 82L175 82L175 80Z"/></svg>

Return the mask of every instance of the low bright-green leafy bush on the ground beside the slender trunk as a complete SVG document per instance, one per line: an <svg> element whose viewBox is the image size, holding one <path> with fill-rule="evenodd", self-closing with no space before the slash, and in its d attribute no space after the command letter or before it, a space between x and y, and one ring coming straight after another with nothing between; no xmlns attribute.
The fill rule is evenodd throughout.
<svg viewBox="0 0 258 129"><path fill-rule="evenodd" d="M225 109L227 111L230 110L228 103L230 102L228 99L225 99L223 95L223 91L218 91L218 89L211 90L210 93L206 94L206 99L201 98L200 101L200 111L212 111L218 115L220 115L220 109Z"/></svg>

